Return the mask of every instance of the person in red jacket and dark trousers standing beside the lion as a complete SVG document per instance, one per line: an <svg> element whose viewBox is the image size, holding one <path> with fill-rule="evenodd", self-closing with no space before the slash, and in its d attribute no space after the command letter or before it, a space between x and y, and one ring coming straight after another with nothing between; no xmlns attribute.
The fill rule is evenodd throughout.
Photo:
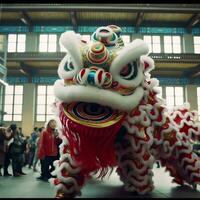
<svg viewBox="0 0 200 200"><path fill-rule="evenodd" d="M41 161L41 176L38 179L48 181L53 177L51 171L54 170L53 162L58 158L58 145L60 139L58 132L56 131L57 123L54 119L51 119L44 131L40 134L38 158ZM51 169L50 169L51 166Z"/></svg>

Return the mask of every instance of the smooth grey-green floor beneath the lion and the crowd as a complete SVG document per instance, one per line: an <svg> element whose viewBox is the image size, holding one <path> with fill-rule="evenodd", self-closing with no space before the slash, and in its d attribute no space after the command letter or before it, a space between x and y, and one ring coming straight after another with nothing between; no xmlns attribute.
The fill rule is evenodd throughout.
<svg viewBox="0 0 200 200"><path fill-rule="evenodd" d="M27 167L23 168L27 175L20 177L0 177L0 198L53 198L54 189L48 182L38 181L38 172ZM11 170L10 170L11 172ZM138 196L123 190L118 175L113 172L109 179L104 181L91 180L82 190L81 198L200 198L198 191L189 186L178 186L171 183L172 178L164 168L153 169L155 189L149 195Z"/></svg>

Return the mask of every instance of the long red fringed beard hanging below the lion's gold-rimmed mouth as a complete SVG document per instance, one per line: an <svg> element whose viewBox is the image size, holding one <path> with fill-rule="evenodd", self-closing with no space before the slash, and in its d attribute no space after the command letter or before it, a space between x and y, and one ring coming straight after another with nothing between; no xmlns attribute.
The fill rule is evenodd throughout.
<svg viewBox="0 0 200 200"><path fill-rule="evenodd" d="M81 162L86 175L100 170L99 177L104 177L116 166L115 138L123 119L106 128L94 128L72 122L63 115L60 117L62 123L65 120L64 134L69 141L71 156Z"/></svg>

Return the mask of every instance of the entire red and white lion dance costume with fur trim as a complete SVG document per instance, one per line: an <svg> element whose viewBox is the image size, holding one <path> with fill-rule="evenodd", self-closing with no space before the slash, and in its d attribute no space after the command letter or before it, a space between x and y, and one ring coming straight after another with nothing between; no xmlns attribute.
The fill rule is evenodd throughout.
<svg viewBox="0 0 200 200"><path fill-rule="evenodd" d="M158 80L149 72L154 61L140 39L124 45L121 28L98 28L91 42L74 31L60 37L66 56L54 84L55 112L62 128L56 198L81 195L91 173L103 178L116 167L126 191L153 190L156 160L173 181L197 188L200 160L190 140L200 141L197 113L189 104L167 110L158 98Z"/></svg>

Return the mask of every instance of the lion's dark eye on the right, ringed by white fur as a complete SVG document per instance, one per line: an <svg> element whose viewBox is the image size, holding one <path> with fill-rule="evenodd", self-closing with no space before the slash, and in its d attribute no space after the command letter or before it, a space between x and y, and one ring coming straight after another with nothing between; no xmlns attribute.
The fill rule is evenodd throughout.
<svg viewBox="0 0 200 200"><path fill-rule="evenodd" d="M138 73L137 62L128 63L126 66L122 68L120 71L120 76L126 80L133 80Z"/></svg>

